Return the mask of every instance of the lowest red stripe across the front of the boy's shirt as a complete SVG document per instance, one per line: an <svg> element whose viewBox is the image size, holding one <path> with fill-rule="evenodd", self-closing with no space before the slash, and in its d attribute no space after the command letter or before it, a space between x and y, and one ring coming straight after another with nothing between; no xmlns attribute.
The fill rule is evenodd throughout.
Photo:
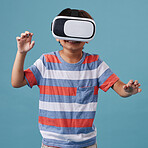
<svg viewBox="0 0 148 148"><path fill-rule="evenodd" d="M56 127L92 127L94 119L51 119L39 116L39 123Z"/></svg>

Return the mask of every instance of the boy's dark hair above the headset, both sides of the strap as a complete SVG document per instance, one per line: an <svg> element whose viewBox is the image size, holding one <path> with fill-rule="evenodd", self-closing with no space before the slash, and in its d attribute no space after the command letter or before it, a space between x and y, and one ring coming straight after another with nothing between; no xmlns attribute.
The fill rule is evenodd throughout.
<svg viewBox="0 0 148 148"><path fill-rule="evenodd" d="M71 16L72 10L73 10L73 9L66 8L66 9L62 10L62 11L58 14L58 16ZM93 18L91 17L91 15L90 15L89 13L87 13L86 11L84 11L84 10L78 10L78 17L93 19Z"/></svg>

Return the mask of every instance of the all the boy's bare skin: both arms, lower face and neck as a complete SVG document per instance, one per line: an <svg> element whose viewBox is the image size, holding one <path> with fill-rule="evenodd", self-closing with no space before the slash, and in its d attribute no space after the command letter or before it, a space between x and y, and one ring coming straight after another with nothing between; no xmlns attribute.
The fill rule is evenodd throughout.
<svg viewBox="0 0 148 148"><path fill-rule="evenodd" d="M15 62L12 69L11 84L13 87L18 88L25 86L27 84L26 79L24 78L24 61L28 51L30 51L35 41L31 42L33 33L26 31L22 33L20 37L16 37L17 40L17 54ZM61 57L68 63L77 63L82 58L83 46L88 42L71 42L65 40L56 39L57 42L63 46L63 50L59 53ZM113 86L112 89L119 94L121 97L129 97L131 95L140 93L142 91L138 80L130 80L127 84L123 83L121 80L118 80Z"/></svg>

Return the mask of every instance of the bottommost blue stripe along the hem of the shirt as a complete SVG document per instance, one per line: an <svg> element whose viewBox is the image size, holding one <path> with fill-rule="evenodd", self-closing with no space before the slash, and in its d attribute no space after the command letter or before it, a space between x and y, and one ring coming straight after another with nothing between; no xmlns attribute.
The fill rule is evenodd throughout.
<svg viewBox="0 0 148 148"><path fill-rule="evenodd" d="M72 142L70 140L61 141L61 140L53 140L53 139L45 139L42 140L44 145L47 146L56 146L62 148L82 148L93 145L96 143L96 137L93 137L89 140L82 141L82 142Z"/></svg>

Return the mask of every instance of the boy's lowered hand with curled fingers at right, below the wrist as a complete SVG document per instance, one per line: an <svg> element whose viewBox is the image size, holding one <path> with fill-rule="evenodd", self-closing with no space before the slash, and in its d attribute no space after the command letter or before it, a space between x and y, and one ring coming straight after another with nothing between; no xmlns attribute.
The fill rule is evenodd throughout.
<svg viewBox="0 0 148 148"><path fill-rule="evenodd" d="M123 85L123 89L130 95L134 95L142 91L142 89L139 88L140 86L141 85L138 83L137 80L135 80L135 82L133 80L130 80L127 84Z"/></svg>

